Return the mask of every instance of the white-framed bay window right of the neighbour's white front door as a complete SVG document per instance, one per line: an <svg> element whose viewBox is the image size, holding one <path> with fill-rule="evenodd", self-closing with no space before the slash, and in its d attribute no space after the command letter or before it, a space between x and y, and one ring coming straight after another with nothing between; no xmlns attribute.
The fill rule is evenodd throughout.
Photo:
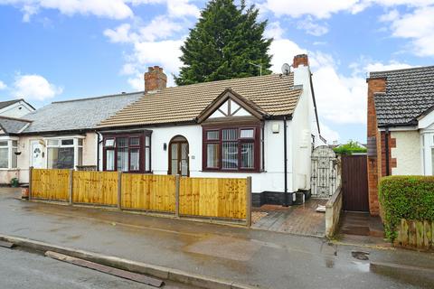
<svg viewBox="0 0 434 289"><path fill-rule="evenodd" d="M83 140L77 137L46 140L47 167L49 169L73 169L82 165Z"/></svg>

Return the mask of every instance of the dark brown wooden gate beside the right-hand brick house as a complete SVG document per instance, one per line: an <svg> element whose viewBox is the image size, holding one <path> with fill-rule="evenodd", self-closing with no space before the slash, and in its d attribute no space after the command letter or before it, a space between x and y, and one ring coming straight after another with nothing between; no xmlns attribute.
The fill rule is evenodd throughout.
<svg viewBox="0 0 434 289"><path fill-rule="evenodd" d="M366 155L342 157L342 210L369 211L367 166Z"/></svg>

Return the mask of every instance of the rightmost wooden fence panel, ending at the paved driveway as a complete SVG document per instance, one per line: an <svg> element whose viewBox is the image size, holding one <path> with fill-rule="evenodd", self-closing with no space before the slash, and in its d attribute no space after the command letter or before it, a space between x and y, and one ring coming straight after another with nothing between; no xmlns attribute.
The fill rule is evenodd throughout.
<svg viewBox="0 0 434 289"><path fill-rule="evenodd" d="M246 186L246 179L182 177L180 214L246 219Z"/></svg>

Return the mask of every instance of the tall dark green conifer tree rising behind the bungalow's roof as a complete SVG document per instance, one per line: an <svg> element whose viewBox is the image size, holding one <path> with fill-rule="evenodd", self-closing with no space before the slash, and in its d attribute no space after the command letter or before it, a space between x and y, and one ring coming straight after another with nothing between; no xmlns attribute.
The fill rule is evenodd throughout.
<svg viewBox="0 0 434 289"><path fill-rule="evenodd" d="M258 22L259 10L251 5L234 4L234 0L212 0L203 9L198 23L181 47L183 56L177 85L236 79L271 71L269 45L263 36L267 21Z"/></svg>

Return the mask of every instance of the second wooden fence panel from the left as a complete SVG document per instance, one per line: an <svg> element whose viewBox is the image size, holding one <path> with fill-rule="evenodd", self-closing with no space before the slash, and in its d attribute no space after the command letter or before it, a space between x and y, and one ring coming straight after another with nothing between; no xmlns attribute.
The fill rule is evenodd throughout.
<svg viewBox="0 0 434 289"><path fill-rule="evenodd" d="M118 172L74 172L72 200L78 203L116 206Z"/></svg>

